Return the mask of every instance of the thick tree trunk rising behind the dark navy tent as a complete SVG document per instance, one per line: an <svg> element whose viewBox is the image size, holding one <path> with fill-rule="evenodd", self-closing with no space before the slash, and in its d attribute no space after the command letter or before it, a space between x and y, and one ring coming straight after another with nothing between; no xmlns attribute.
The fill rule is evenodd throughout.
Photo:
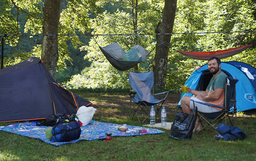
<svg viewBox="0 0 256 161"><path fill-rule="evenodd" d="M45 0L43 6L43 35L58 35L61 0ZM56 79L58 62L58 36L43 36L42 61L52 77Z"/></svg>

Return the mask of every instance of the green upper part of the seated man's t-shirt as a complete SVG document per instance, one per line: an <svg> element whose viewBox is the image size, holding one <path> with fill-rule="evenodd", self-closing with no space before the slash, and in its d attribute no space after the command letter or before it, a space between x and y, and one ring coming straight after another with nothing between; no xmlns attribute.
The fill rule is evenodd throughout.
<svg viewBox="0 0 256 161"><path fill-rule="evenodd" d="M223 88L225 87L225 79L227 75L224 72L218 73L218 75L212 79L209 82L209 85L207 86L207 89L209 90L209 93L212 93L214 89L216 88Z"/></svg>

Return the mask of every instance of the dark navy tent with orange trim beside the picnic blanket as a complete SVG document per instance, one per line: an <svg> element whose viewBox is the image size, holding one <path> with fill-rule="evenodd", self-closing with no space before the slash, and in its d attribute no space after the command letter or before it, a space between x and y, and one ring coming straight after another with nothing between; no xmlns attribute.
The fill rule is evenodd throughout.
<svg viewBox="0 0 256 161"><path fill-rule="evenodd" d="M81 106L92 106L58 85L36 57L0 70L0 82L0 122L43 119L56 113L71 115Z"/></svg>

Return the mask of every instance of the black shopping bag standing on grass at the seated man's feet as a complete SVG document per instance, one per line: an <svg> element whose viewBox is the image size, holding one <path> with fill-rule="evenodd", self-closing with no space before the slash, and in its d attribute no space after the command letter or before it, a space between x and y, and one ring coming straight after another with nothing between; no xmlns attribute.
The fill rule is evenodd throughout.
<svg viewBox="0 0 256 161"><path fill-rule="evenodd" d="M193 129L195 128L197 115L197 107L195 107L190 114L178 112L173 121L169 138L191 139Z"/></svg>

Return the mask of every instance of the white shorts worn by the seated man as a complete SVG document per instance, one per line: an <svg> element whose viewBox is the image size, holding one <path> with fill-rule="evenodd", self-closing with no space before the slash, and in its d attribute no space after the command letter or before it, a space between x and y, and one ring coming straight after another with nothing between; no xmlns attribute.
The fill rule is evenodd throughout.
<svg viewBox="0 0 256 161"><path fill-rule="evenodd" d="M191 97L192 100L199 101L199 102L205 102L200 99L197 99L195 97ZM190 99L190 109L194 109L194 102ZM207 102L208 103L208 102ZM211 106L207 106L205 104L200 104L195 102L195 106L198 107L198 111L204 112L204 113L212 113L212 112L218 112L218 109L212 108Z"/></svg>

